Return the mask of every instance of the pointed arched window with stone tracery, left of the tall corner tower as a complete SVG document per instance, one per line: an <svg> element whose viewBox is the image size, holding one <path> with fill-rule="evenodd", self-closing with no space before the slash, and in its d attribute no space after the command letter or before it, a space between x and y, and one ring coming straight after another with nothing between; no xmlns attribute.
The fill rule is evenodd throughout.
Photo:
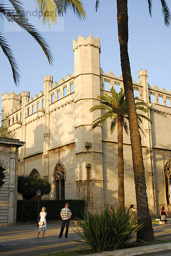
<svg viewBox="0 0 171 256"><path fill-rule="evenodd" d="M65 169L61 163L57 163L54 171L56 199L65 199Z"/></svg>

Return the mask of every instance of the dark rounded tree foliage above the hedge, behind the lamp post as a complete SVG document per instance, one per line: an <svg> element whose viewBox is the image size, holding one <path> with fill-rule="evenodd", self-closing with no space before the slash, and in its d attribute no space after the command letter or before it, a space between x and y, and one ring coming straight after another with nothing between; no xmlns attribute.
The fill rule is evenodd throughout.
<svg viewBox="0 0 171 256"><path fill-rule="evenodd" d="M36 179L34 176L18 176L17 192L23 199L31 200L38 189L41 190L41 195L48 195L51 192L51 184L48 180Z"/></svg>

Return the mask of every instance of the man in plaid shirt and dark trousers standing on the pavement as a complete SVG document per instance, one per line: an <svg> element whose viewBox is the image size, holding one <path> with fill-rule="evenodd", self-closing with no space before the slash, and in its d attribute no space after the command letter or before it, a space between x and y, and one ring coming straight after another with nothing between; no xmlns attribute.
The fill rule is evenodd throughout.
<svg viewBox="0 0 171 256"><path fill-rule="evenodd" d="M69 229L69 224L70 224L70 218L72 215L72 213L68 207L69 207L69 204L65 204L65 208L61 209L60 214L61 214L61 218L62 218L62 226L61 226L60 234L58 236L59 238L62 237L65 224L66 224L65 238L68 238L68 229Z"/></svg>

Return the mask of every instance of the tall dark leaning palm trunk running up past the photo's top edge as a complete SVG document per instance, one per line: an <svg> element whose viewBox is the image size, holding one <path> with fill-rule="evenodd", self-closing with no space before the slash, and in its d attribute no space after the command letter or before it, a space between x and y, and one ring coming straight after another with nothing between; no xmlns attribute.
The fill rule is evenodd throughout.
<svg viewBox="0 0 171 256"><path fill-rule="evenodd" d="M129 117L130 141L133 157L133 172L136 190L136 204L138 210L139 224L145 222L145 227L137 233L137 239L150 241L154 239L151 224L151 216L148 208L146 192L145 168L142 157L142 145L139 134L136 107L133 98L133 84L130 73L130 62L128 56L128 1L117 0L117 22L120 45L120 58L122 76L125 89L127 111Z"/></svg>

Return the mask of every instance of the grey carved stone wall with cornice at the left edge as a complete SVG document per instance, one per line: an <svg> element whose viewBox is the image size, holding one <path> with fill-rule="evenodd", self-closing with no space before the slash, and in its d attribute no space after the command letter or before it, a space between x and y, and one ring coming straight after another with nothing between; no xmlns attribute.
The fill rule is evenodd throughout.
<svg viewBox="0 0 171 256"><path fill-rule="evenodd" d="M0 188L0 226L16 224L18 148L24 142L0 138L0 164L5 168L5 183Z"/></svg>

